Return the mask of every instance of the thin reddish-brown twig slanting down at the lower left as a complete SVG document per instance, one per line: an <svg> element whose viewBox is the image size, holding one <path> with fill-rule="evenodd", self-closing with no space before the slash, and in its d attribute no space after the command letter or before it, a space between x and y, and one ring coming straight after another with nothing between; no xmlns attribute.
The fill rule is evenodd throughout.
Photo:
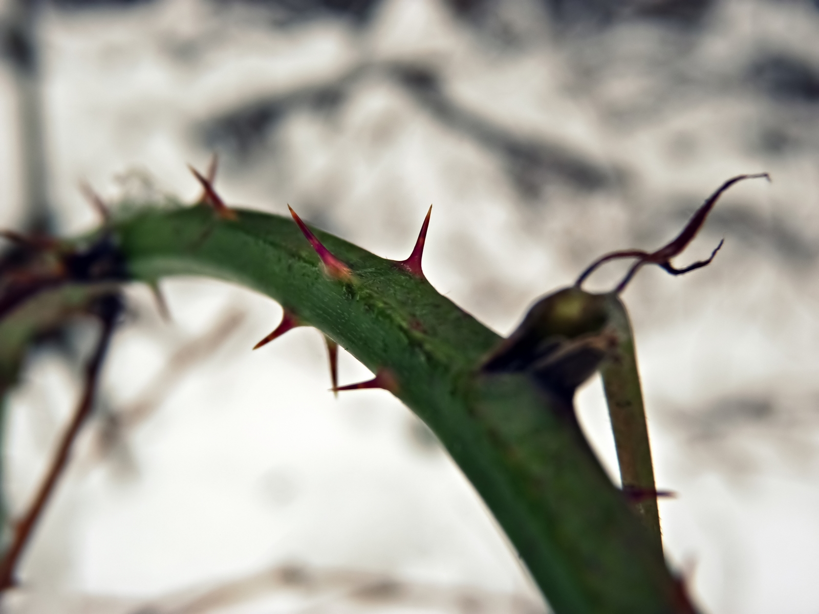
<svg viewBox="0 0 819 614"><path fill-rule="evenodd" d="M2 561L0 561L0 592L16 585L15 571L20 556L29 543L34 527L43 514L43 509L48 500L51 499L57 481L59 481L68 466L71 448L93 409L97 382L102 370L102 361L105 359L116 320L122 310L122 301L118 295L108 295L102 297L99 306L98 315L102 321L102 331L97 341L97 347L94 349L94 353L85 368L83 395L77 405L74 417L71 418L66 432L63 433L60 445L57 448L57 454L52 459L51 467L40 485L37 496L29 507L29 511L25 513L25 517L16 524L11 546L3 556Z"/></svg>

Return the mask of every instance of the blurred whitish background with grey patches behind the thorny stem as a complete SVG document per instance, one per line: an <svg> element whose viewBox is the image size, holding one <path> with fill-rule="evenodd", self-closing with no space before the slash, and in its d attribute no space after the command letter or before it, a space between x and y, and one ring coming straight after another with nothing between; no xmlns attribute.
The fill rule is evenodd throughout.
<svg viewBox="0 0 819 614"><path fill-rule="evenodd" d="M735 174L677 264L624 293L667 558L706 612L819 611L819 4L808 0L6 0L0 225L224 199L424 269L501 334L606 251L656 249ZM622 266L596 273L613 287ZM195 278L129 288L93 423L7 612L545 612L434 436L340 395L318 332ZM4 463L25 509L90 328L32 355ZM368 377L342 355L342 384ZM617 480L600 382L578 412Z"/></svg>

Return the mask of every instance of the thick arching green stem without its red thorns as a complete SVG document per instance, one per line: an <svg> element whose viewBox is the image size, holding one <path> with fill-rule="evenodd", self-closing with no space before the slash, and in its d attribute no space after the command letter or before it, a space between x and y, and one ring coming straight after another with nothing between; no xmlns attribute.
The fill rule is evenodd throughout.
<svg viewBox="0 0 819 614"><path fill-rule="evenodd" d="M143 210L113 232L134 279L241 284L373 372L389 372L396 396L473 483L555 612L693 611L566 407L525 375L481 374L500 337L425 279L316 231L353 272L328 278L291 220L251 211L230 221L203 206Z"/></svg>

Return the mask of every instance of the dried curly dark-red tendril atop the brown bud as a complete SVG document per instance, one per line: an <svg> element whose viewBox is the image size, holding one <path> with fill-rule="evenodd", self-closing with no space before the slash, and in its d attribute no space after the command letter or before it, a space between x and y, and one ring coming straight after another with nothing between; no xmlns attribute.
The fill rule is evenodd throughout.
<svg viewBox="0 0 819 614"><path fill-rule="evenodd" d="M717 249L711 253L708 260L699 260L699 262L690 264L685 269L675 269L671 264L671 259L674 256L679 255L680 252L685 250L690 242L694 240L694 237L696 237L697 233L699 233L699 229L703 227L705 218L708 217L708 214L713 209L713 206L717 204L717 201L719 200L719 197L722 196L723 192L725 192L735 183L739 183L744 179L758 178L766 178L768 182L771 182L771 176L767 173L737 175L736 177L728 179L722 184L722 186L717 188L716 192L714 192L711 196L708 196L708 199L706 199L699 209L695 211L695 214L691 216L691 219L688 220L688 223L686 223L686 228L683 228L682 232L678 234L673 241L668 242L666 245L660 247L657 251L651 252L650 254L649 252L642 250L622 250L613 251L609 254L600 256L600 258L591 263L586 270L581 273L580 277L577 278L577 282L574 282L575 287L581 287L581 284L586 281L586 278L588 278L591 273L594 273L595 269L600 267L601 264L609 262L609 260L619 260L621 258L638 259L636 263L631 266L631 269L628 270L626 277L622 278L622 281L618 284L618 287L614 289L615 293L620 293L625 290L628 282L631 281L631 278L634 277L635 273L640 270L640 267L642 267L643 264L657 264L667 271L667 273L671 273L672 275L682 275L711 264L714 256L717 255L717 251L719 251L720 247L722 247L722 241L717 246Z"/></svg>

